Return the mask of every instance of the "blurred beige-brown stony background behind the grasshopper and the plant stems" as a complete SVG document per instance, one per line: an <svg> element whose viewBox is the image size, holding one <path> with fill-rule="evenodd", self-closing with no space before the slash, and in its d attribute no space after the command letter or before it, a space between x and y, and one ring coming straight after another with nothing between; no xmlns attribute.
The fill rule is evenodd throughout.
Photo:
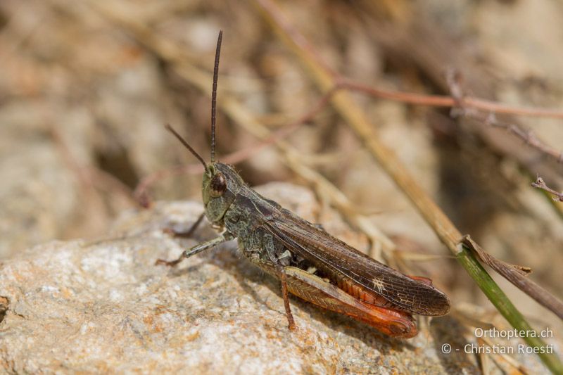
<svg viewBox="0 0 563 375"><path fill-rule="evenodd" d="M557 1L278 5L344 77L448 94L445 72L455 69L467 94L563 108ZM198 171L177 173L196 160L163 125L174 125L209 160L209 92L221 29L220 160L260 144L251 123L282 129L321 96L253 1L0 2L0 261L44 241L101 236L123 210L142 209L134 196L141 182L153 201L201 200ZM452 117L448 108L353 97L463 233L495 257L531 267L534 281L563 297L562 208L530 186L539 173L563 189L560 163L507 132ZM563 148L562 120L506 118ZM330 106L286 141L299 163L320 172L395 241L400 264L434 279L455 307L493 319L492 305ZM236 167L251 185L284 181L314 190L281 153L270 145ZM317 195L321 205L331 203ZM559 335L555 315L495 279L533 324Z"/></svg>

